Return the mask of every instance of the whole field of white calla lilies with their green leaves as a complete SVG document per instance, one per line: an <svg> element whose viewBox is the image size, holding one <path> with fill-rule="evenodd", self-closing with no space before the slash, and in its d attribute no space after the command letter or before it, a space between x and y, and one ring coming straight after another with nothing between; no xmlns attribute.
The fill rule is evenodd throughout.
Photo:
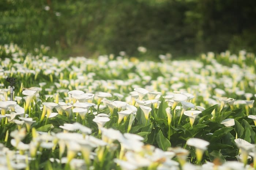
<svg viewBox="0 0 256 170"><path fill-rule="evenodd" d="M47 50L0 46L1 170L256 168L255 54L60 61Z"/></svg>

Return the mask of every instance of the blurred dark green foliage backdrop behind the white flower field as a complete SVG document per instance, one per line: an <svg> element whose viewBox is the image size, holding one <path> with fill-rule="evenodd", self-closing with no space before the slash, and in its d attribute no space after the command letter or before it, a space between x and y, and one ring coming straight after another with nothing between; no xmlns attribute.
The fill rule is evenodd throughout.
<svg viewBox="0 0 256 170"><path fill-rule="evenodd" d="M45 10L45 6L50 9ZM251 0L1 0L0 44L59 57L256 51Z"/></svg>

